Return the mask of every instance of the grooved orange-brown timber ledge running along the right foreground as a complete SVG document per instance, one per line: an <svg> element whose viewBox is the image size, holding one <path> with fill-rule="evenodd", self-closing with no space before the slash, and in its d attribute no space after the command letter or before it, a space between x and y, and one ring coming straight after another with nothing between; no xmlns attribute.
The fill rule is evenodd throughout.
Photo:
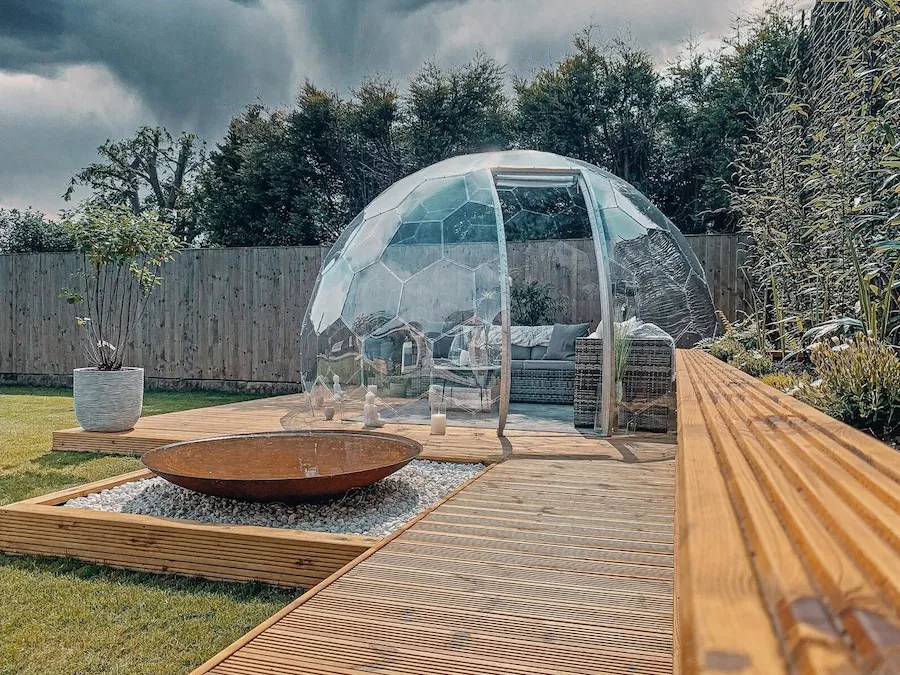
<svg viewBox="0 0 900 675"><path fill-rule="evenodd" d="M900 453L680 350L676 672L900 673Z"/></svg>

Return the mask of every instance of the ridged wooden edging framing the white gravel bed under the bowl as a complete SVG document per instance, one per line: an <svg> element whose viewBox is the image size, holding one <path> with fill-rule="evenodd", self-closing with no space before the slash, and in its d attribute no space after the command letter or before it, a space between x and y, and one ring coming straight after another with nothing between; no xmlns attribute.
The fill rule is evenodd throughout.
<svg viewBox="0 0 900 675"><path fill-rule="evenodd" d="M65 556L143 572L308 588L376 537L219 525L60 508L70 499L152 476L128 474L0 506L0 551Z"/></svg>

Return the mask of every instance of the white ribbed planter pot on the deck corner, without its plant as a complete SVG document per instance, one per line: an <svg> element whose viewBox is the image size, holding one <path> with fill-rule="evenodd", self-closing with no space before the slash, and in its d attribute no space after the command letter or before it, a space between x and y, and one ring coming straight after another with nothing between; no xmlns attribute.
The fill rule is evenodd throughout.
<svg viewBox="0 0 900 675"><path fill-rule="evenodd" d="M75 418L85 431L128 431L144 405L144 369L76 368Z"/></svg>

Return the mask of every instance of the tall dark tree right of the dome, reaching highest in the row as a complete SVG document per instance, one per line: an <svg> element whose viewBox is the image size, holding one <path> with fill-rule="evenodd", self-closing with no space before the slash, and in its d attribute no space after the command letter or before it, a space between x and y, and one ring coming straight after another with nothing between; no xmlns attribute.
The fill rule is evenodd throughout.
<svg viewBox="0 0 900 675"><path fill-rule="evenodd" d="M785 80L797 67L799 26L780 3L740 19L726 48L692 45L663 80L658 119L661 171L648 190L685 232L732 231L734 161L753 143L766 111L785 106Z"/></svg>

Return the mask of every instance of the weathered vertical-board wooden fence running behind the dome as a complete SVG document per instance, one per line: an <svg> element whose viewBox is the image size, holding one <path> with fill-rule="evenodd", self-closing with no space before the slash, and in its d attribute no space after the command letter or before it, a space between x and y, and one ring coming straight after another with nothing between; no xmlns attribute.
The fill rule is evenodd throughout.
<svg viewBox="0 0 900 675"><path fill-rule="evenodd" d="M729 318L745 309L739 235L687 237L713 301ZM464 256L465 251L457 252ZM471 252L476 255L477 252ZM197 381L296 383L300 331L324 258L322 247L191 249L165 270L128 348L157 384ZM551 283L569 299L560 320L599 316L590 241L514 243L518 280ZM77 308L60 297L72 285L71 253L0 255L0 376L60 376L85 363Z"/></svg>

